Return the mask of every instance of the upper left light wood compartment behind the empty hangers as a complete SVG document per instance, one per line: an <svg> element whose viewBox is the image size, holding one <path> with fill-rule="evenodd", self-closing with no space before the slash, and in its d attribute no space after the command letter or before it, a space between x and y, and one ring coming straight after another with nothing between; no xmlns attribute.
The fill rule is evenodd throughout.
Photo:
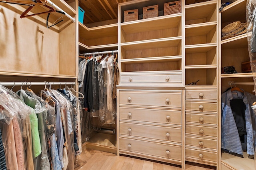
<svg viewBox="0 0 256 170"><path fill-rule="evenodd" d="M52 2L77 20L75 0L69 1L69 4L63 0ZM48 25L61 16L63 21L48 29L47 14L20 19L27 6L0 5L0 81L76 82L77 21L53 12ZM34 6L31 14L44 10L42 6ZM43 89L32 86L32 89L35 88Z"/></svg>

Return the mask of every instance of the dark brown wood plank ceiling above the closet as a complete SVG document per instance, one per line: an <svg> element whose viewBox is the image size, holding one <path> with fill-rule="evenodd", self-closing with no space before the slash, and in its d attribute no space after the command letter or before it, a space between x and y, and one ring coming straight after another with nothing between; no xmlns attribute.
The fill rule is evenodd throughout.
<svg viewBox="0 0 256 170"><path fill-rule="evenodd" d="M117 19L118 3L128 1L132 0L78 0L84 10L84 24ZM186 4L203 1L207 0L186 0Z"/></svg>

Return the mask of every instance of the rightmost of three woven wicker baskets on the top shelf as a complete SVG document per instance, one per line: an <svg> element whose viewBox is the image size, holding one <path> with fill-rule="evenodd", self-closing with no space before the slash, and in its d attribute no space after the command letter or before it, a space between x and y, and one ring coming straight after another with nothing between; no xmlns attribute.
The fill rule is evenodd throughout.
<svg viewBox="0 0 256 170"><path fill-rule="evenodd" d="M181 1L173 1L164 4L164 16L181 13Z"/></svg>

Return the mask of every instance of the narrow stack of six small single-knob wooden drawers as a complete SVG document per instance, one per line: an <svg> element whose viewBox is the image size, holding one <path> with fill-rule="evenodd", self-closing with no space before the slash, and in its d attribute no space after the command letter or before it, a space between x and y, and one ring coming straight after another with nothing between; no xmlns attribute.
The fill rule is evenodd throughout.
<svg viewBox="0 0 256 170"><path fill-rule="evenodd" d="M217 89L186 88L185 159L217 165Z"/></svg>

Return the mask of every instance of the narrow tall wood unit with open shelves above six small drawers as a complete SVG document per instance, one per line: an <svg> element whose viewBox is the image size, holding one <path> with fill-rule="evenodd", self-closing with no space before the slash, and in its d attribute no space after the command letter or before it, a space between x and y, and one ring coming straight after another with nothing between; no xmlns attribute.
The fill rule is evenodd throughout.
<svg viewBox="0 0 256 170"><path fill-rule="evenodd" d="M218 166L218 1L185 5L185 160Z"/></svg>

